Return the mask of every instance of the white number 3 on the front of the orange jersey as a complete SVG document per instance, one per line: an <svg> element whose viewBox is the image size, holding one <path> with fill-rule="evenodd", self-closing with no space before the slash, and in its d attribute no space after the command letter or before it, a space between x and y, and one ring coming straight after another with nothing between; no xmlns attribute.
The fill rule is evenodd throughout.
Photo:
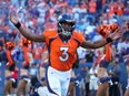
<svg viewBox="0 0 129 96"><path fill-rule="evenodd" d="M59 56L60 61L66 62L69 58L69 54L68 54L68 50L69 47L60 47L60 51L62 51L62 56Z"/></svg>

